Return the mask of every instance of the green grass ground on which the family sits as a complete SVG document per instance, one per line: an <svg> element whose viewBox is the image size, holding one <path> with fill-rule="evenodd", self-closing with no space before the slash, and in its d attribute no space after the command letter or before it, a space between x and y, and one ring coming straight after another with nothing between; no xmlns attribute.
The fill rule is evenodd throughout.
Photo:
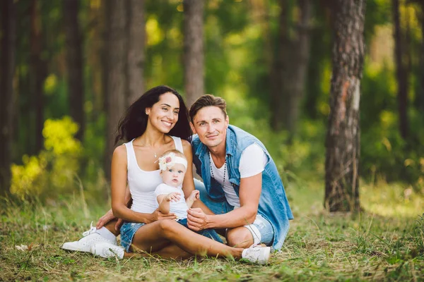
<svg viewBox="0 0 424 282"><path fill-rule="evenodd" d="M268 266L231 259L101 259L66 252L105 209L80 199L1 205L0 281L424 281L423 197L400 184L361 185L366 212L328 214L322 183L288 185L295 220ZM28 250L16 246L27 245Z"/></svg>

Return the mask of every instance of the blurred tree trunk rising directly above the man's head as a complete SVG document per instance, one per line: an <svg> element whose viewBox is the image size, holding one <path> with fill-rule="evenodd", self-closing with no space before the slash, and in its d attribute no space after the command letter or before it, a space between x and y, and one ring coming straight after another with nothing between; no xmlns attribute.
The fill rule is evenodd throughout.
<svg viewBox="0 0 424 282"><path fill-rule="evenodd" d="M204 0L184 0L184 85L187 106L204 94Z"/></svg>

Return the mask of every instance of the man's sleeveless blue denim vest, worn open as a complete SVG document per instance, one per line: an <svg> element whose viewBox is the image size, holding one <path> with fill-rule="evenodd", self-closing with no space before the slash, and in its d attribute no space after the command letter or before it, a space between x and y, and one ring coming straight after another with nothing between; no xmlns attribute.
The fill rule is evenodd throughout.
<svg viewBox="0 0 424 282"><path fill-rule="evenodd" d="M273 249L279 250L284 243L286 235L286 232L282 231L288 230L288 221L293 219L293 214L285 195L283 182L278 175L276 164L273 162L262 142L257 137L234 125L228 126L225 140L229 181L238 196L240 190L240 157L242 156L242 152L254 143L257 143L268 157L264 171L262 171L262 190L259 199L258 214L271 222L274 228ZM224 201L225 194L222 186L214 178L211 178L208 147L200 142L197 135L193 137L192 150L196 173L203 178L209 197L213 200Z"/></svg>

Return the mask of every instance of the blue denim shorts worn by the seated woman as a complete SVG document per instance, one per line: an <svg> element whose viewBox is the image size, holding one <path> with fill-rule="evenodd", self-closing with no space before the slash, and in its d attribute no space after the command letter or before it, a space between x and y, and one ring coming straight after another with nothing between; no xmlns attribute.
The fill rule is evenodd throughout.
<svg viewBox="0 0 424 282"><path fill-rule="evenodd" d="M179 219L177 221L182 226L187 227L187 219ZM134 223L134 222L125 222L121 226L121 245L125 248L126 252L129 252L129 247L131 247L132 240L134 235L139 230L141 226L146 223ZM195 232L195 231L193 231ZM200 235L204 235L205 237L211 238L212 240L216 240L219 243L223 243L223 240L219 237L218 233L216 233L213 229L205 229L196 232Z"/></svg>

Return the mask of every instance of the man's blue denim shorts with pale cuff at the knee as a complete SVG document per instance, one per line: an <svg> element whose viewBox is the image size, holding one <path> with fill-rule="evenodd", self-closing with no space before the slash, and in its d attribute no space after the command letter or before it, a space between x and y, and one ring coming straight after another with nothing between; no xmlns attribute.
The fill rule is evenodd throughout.
<svg viewBox="0 0 424 282"><path fill-rule="evenodd" d="M211 209L214 214L226 214L234 209L234 207L228 204L226 200L218 202L211 199L211 197L208 197L208 192L206 192L204 183L201 181L194 179L194 185L196 186L196 190L200 191L200 200L204 202L204 204L206 204L206 206ZM245 227L249 229L250 233L252 233L254 243L264 243L267 246L271 246L273 244L273 226L271 222L260 214L257 214L257 218L254 223L245 225Z"/></svg>

